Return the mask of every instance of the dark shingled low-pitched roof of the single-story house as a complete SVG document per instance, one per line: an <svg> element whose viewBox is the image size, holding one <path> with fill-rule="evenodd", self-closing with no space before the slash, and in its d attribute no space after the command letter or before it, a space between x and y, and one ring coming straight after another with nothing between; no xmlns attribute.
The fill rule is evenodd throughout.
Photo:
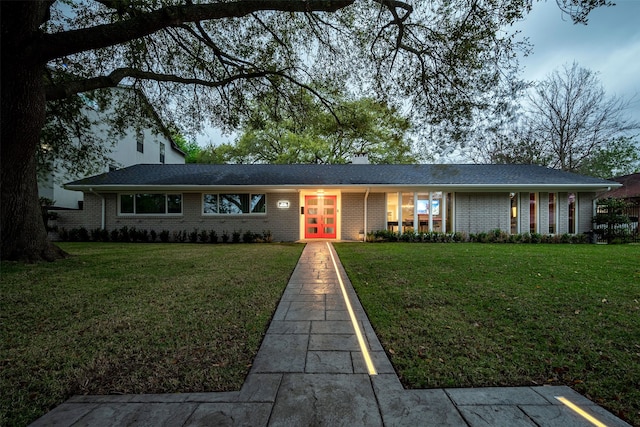
<svg viewBox="0 0 640 427"><path fill-rule="evenodd" d="M535 165L134 165L81 179L70 189L190 186L593 186L619 184Z"/></svg>

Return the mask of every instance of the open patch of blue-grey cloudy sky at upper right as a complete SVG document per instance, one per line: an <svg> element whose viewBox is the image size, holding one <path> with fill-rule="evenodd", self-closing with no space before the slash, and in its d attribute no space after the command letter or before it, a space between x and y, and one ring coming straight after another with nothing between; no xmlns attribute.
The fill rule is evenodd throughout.
<svg viewBox="0 0 640 427"><path fill-rule="evenodd" d="M575 61L599 73L607 95L633 99L629 115L640 121L640 0L614 1L592 11L586 26L563 16L555 0L535 2L517 27L533 44L523 78L543 80Z"/></svg>

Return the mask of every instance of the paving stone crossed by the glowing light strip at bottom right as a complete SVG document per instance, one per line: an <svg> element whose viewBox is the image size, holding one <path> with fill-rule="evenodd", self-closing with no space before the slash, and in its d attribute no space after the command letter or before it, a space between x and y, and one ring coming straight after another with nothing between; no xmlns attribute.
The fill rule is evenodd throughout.
<svg viewBox="0 0 640 427"><path fill-rule="evenodd" d="M540 427L585 427L593 425L565 405L521 405L520 409ZM599 406L580 406L580 409L607 427L631 427Z"/></svg>

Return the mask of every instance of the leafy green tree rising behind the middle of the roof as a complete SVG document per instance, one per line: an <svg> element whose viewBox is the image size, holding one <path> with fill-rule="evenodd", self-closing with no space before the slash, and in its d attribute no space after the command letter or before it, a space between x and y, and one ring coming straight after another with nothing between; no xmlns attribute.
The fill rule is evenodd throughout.
<svg viewBox="0 0 640 427"><path fill-rule="evenodd" d="M367 153L372 163L410 163L415 157L409 126L395 109L371 98L340 101L327 110L301 91L286 105L260 101L235 144L223 150L230 163L336 164L357 153Z"/></svg>

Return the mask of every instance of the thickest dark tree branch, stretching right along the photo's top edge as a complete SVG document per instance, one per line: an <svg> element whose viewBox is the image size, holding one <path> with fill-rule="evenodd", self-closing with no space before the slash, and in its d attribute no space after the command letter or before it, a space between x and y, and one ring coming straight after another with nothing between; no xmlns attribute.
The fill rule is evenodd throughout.
<svg viewBox="0 0 640 427"><path fill-rule="evenodd" d="M137 14L124 21L95 27L43 34L25 47L25 58L34 63L47 62L87 50L117 45L147 36L167 27L202 20L239 18L259 11L335 12L355 0L237 0L229 3L167 6ZM108 4L107 1L103 2Z"/></svg>

